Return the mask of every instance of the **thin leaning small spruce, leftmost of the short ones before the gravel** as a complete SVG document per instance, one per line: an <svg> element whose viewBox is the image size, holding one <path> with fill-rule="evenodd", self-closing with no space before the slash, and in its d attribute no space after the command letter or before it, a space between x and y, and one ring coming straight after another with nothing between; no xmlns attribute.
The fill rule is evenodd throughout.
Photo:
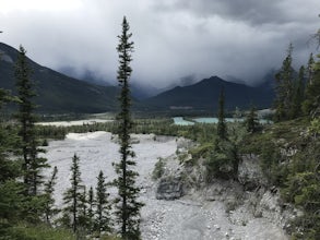
<svg viewBox="0 0 320 240"><path fill-rule="evenodd" d="M52 216L59 213L59 209L55 207L54 191L57 181L58 168L55 166L50 179L45 183L45 217L47 224L51 224Z"/></svg>

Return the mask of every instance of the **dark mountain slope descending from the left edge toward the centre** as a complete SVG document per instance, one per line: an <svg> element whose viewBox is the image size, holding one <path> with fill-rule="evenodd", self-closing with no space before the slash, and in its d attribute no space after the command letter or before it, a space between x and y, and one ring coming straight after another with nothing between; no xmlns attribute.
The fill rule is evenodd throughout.
<svg viewBox="0 0 320 240"><path fill-rule="evenodd" d="M0 87L15 93L14 62L17 50L0 44ZM28 59L36 82L35 103L40 112L103 112L117 108L115 86L90 84L43 67Z"/></svg>

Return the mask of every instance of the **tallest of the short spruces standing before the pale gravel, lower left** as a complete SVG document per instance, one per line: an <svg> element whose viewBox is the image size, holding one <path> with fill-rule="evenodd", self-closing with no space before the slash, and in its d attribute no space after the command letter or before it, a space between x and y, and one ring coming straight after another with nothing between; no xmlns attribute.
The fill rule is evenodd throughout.
<svg viewBox="0 0 320 240"><path fill-rule="evenodd" d="M81 203L82 203L82 194L83 194L83 185L81 180L81 171L79 167L80 158L74 154L72 158L72 165L70 168L71 178L70 183L71 187L67 189L63 193L63 204L64 208L62 209L62 224L67 227L71 227L73 232L78 231L79 228L79 218L81 213Z"/></svg>

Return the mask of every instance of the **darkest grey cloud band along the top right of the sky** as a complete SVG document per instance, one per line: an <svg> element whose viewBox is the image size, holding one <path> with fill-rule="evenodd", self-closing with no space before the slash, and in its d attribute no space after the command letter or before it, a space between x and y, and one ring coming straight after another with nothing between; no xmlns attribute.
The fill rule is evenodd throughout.
<svg viewBox="0 0 320 240"><path fill-rule="evenodd" d="M221 15L252 25L285 24L301 16L304 22L313 22L310 11L318 13L317 8L319 11L319 2L313 0L173 0L156 4L158 10L188 10L202 17Z"/></svg>

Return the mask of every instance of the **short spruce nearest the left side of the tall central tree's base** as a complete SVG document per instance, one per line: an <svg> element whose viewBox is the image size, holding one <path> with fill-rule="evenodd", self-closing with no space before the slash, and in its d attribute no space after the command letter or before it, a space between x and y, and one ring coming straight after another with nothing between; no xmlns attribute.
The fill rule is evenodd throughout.
<svg viewBox="0 0 320 240"><path fill-rule="evenodd" d="M97 177L96 200L95 200L95 221L94 230L100 236L100 232L111 231L110 209L111 206L108 201L109 193L107 193L107 183L103 171L99 171Z"/></svg>

